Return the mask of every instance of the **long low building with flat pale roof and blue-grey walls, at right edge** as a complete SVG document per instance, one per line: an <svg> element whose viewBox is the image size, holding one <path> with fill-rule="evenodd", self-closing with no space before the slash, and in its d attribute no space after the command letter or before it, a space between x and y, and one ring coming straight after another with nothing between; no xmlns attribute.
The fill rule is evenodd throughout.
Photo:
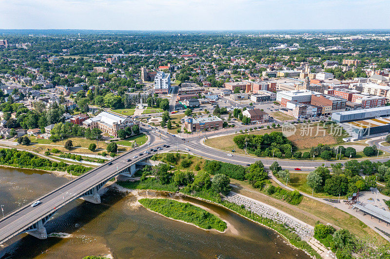
<svg viewBox="0 0 390 259"><path fill-rule="evenodd" d="M332 114L332 120L336 122L348 122L368 120L379 117L389 117L390 106L375 107L370 109L360 109L353 111L335 112Z"/></svg>

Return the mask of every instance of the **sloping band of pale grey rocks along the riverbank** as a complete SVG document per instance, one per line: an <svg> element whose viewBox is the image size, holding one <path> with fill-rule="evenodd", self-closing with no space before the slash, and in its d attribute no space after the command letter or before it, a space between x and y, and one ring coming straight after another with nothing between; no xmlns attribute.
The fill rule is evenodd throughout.
<svg viewBox="0 0 390 259"><path fill-rule="evenodd" d="M271 219L277 223L288 225L295 230L295 233L303 240L310 240L314 235L314 228L311 225L299 222L285 213L281 213L272 207L268 207L260 202L243 197L237 193L230 192L224 197L225 201L235 203L237 205L244 205L246 209L264 217Z"/></svg>

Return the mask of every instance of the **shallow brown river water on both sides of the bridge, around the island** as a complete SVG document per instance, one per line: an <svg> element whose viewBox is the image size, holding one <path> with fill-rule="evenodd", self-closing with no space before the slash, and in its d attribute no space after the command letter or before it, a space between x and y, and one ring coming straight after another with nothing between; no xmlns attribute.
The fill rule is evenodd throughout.
<svg viewBox="0 0 390 259"><path fill-rule="evenodd" d="M31 170L0 168L0 204L11 211L69 178ZM168 197L204 207L228 223L224 233L206 231L177 222L137 203L139 197ZM165 192L123 192L106 188L101 204L76 200L46 225L49 233L69 233L69 238L39 240L21 234L0 255L4 258L83 258L107 255L114 258L309 258L287 245L271 229L255 224L225 208ZM1 248L0 248L1 249Z"/></svg>

